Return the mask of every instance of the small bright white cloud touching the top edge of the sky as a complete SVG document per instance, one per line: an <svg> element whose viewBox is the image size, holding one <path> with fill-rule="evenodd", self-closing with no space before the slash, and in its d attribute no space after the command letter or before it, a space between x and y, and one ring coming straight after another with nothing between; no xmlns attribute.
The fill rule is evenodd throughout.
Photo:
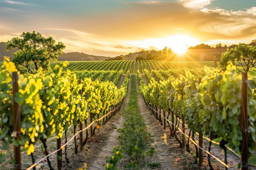
<svg viewBox="0 0 256 170"><path fill-rule="evenodd" d="M211 1L214 0L178 0L180 4L184 7L194 8L194 9L202 9L205 6L211 4Z"/></svg>

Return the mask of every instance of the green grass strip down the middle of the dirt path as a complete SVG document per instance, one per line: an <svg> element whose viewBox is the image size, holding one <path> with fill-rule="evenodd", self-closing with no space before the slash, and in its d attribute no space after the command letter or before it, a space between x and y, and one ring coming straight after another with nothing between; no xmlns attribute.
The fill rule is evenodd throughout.
<svg viewBox="0 0 256 170"><path fill-rule="evenodd" d="M144 118L139 111L138 93L136 91L135 84L136 75L131 75L130 81L131 90L128 107L122 113L124 117L123 128L118 129L117 131L120 132L120 148L124 151L124 159L127 160L125 161L127 164L122 166L137 169L137 166L146 166L144 161L145 156L152 156L155 152L155 148L151 147L147 150L147 148L149 148L148 139L150 139L150 133L147 131ZM115 152L115 155L110 158L113 159L112 162L115 161L114 159L117 157L116 153L117 152ZM157 165L154 164L152 166ZM116 166L114 168L116 168ZM108 169L110 170L112 168L108 166Z"/></svg>

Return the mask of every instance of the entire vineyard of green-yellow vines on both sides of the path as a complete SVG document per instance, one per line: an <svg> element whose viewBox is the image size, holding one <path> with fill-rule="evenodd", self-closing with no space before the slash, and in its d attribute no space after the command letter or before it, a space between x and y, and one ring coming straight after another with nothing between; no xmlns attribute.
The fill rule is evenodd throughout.
<svg viewBox="0 0 256 170"><path fill-rule="evenodd" d="M39 71L35 75L26 76L27 78L18 75L14 64L8 60L1 62L0 65L0 166L11 161L6 150L14 145L18 154L21 147L23 152L31 155L33 163L27 170L35 169L41 161L36 162L34 159L33 152L36 147L42 148L45 155L43 159L47 159L51 170L54 168L49 156L56 154L57 167L61 169L64 155L62 150L71 140L77 154L79 147L82 151L83 145L94 139L96 129L115 117L127 94L130 74L137 74L139 92L144 97L145 105L164 130L169 128L168 137L175 138L179 147L188 152L189 143L194 144L194 162L200 167L203 159L202 150L208 154L211 170L211 157L217 159L225 169L232 169L227 161L227 149L238 155L239 164L245 146L244 131L247 132L248 157L256 148L254 68L249 71L248 79L242 81L242 75L237 72L236 66L229 64L227 71L224 72L213 68L213 62L52 62L52 72ZM247 82L248 85L248 107L241 103L243 82ZM241 112L245 108L248 109L248 118L245 118L248 120L248 127L243 131ZM71 127L74 134L67 141L66 133ZM85 131L86 136L83 137ZM120 138L125 139L126 136L121 135ZM168 137L163 139L166 140ZM52 138L56 139L57 148L56 151L49 153L47 142ZM203 138L209 140L208 150L203 149L200 143ZM63 145L62 139L65 139ZM220 160L218 156L210 153L212 142L225 151L225 160ZM153 150L155 149L152 148L151 154ZM140 151L139 157L143 154L143 151ZM67 157L65 150L66 162ZM14 159L16 164L20 164L17 163L20 160ZM254 165L242 161L243 166Z"/></svg>

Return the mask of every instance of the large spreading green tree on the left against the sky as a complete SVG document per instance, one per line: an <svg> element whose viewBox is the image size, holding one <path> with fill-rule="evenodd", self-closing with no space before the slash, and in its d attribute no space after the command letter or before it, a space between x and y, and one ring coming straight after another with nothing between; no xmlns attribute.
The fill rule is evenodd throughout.
<svg viewBox="0 0 256 170"><path fill-rule="evenodd" d="M6 42L6 51L20 49L13 53L13 62L21 73L34 74L38 68L47 71L49 61L57 61L63 53L65 45L62 42L55 44L52 37L44 38L40 33L22 33L22 38L13 38Z"/></svg>

